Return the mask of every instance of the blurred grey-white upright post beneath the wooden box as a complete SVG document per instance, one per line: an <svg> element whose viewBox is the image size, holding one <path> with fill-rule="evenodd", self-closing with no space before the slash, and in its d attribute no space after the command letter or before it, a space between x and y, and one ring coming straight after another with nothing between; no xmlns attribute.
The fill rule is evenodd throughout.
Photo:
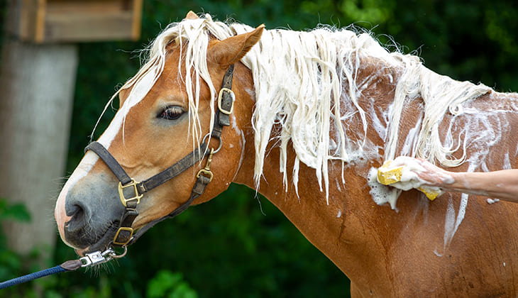
<svg viewBox="0 0 518 298"><path fill-rule="evenodd" d="M38 249L43 260L57 234L53 209L67 159L77 45L35 45L6 36L1 59L0 197L23 202L32 217L3 228L10 248Z"/></svg>

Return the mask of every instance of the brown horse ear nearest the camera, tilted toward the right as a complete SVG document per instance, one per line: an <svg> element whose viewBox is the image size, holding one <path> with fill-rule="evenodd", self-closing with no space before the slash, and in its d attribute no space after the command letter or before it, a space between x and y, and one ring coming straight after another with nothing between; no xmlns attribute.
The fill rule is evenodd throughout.
<svg viewBox="0 0 518 298"><path fill-rule="evenodd" d="M254 31L232 36L225 40L217 41L209 48L207 57L209 60L218 63L223 67L228 67L239 60L248 53L248 51L258 43L263 35L265 25L262 24L255 28Z"/></svg>

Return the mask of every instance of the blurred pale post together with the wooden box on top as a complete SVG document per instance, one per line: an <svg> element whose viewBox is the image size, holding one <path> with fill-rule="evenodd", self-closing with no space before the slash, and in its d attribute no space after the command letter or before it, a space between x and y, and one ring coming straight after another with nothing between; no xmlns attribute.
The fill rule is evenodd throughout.
<svg viewBox="0 0 518 298"><path fill-rule="evenodd" d="M31 223L6 223L11 248L52 252L77 71L72 42L137 40L142 0L8 0L0 69L0 197Z"/></svg>

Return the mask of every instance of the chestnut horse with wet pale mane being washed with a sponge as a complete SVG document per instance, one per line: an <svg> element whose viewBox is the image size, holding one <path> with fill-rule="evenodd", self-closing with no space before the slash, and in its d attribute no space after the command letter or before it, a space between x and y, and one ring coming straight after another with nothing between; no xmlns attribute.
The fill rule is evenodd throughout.
<svg viewBox="0 0 518 298"><path fill-rule="evenodd" d="M148 56L57 199L60 236L79 255L127 248L234 182L275 204L353 297L518 295L517 204L451 192L431 202L373 175L398 155L517 167L517 94L438 75L368 32L192 12Z"/></svg>

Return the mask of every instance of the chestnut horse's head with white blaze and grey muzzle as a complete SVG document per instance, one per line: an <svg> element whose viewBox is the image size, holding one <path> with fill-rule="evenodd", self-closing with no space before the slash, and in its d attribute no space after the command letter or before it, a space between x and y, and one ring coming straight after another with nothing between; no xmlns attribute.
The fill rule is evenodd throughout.
<svg viewBox="0 0 518 298"><path fill-rule="evenodd" d="M203 21L189 13L184 23L192 29ZM153 45L149 62L121 87L119 111L95 142L99 150L111 155L114 167L120 165L131 177L131 182L119 181L110 162L99 158L101 154L89 145L55 207L60 236L67 245L79 254L107 248L120 232L129 205L138 212L126 226L132 234L187 202L199 175L214 175L214 182L193 204L206 202L228 187L239 170L245 145L241 135L248 129L253 106L250 71L239 60L258 42L263 28L224 40L206 40L206 49L200 51L204 53L201 65L186 57L188 36L162 33L157 39L160 44ZM233 72L228 72L229 68ZM228 88L226 92L232 102L231 109L219 116L225 109L221 108L221 99L218 101L224 79L231 80L231 91ZM227 123L220 125L219 118L225 115ZM228 128L221 129L225 126ZM182 158L187 165L180 172L174 177L162 175L163 186L150 189L150 184L140 185L147 189L139 194L136 182L171 172L168 168L181 163ZM204 167L208 169L200 172Z"/></svg>

